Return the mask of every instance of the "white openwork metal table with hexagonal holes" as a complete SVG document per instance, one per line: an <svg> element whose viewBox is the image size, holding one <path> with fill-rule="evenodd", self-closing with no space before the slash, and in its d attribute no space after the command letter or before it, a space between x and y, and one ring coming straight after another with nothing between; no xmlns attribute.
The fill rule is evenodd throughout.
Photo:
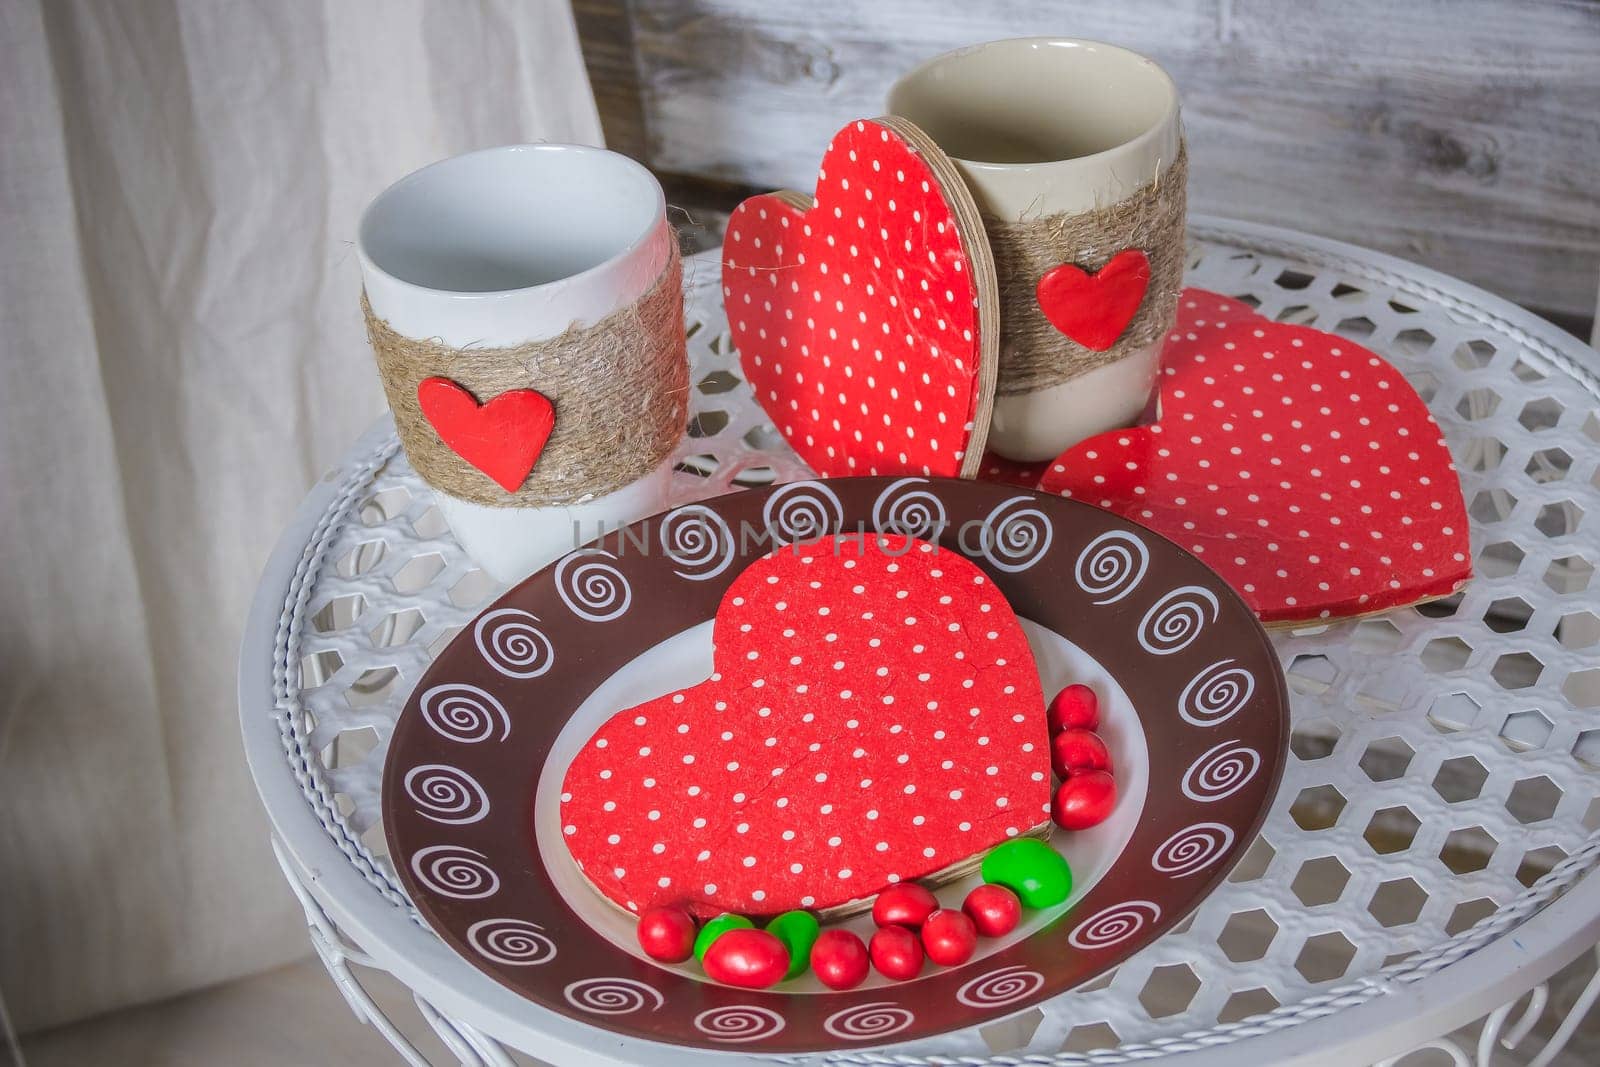
<svg viewBox="0 0 1600 1067"><path fill-rule="evenodd" d="M1477 577L1422 609L1275 635L1294 758L1261 838L1189 921L1110 977L914 1048L789 1059L1342 1065L1424 1046L1467 1064L1520 1043L1518 1059L1546 1062L1600 995L1590 982L1568 1024L1525 1040L1544 982L1600 939L1600 357L1387 256L1205 219L1190 234L1192 285L1362 341L1418 386L1461 467ZM686 266L698 387L678 501L802 475L738 379L715 253ZM358 968L414 990L464 1064L514 1062L509 1049L704 1061L520 1000L446 949L394 878L378 784L395 715L499 592L387 419L283 534L248 621L240 717L312 944L413 1064L426 1061Z"/></svg>

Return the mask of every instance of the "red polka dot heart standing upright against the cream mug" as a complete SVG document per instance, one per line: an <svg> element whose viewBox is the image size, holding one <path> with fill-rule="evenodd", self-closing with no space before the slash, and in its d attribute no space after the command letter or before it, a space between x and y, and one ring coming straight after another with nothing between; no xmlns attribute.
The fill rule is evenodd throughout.
<svg viewBox="0 0 1600 1067"><path fill-rule="evenodd" d="M722 280L744 378L818 474L978 474L994 261L971 194L920 130L854 122L827 146L814 202L741 203Z"/></svg>

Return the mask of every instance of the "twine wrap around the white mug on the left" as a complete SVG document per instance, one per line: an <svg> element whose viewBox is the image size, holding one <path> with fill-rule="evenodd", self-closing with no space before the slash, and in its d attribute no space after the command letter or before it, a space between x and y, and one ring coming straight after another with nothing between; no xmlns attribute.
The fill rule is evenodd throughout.
<svg viewBox="0 0 1600 1067"><path fill-rule="evenodd" d="M683 262L672 258L650 290L592 326L509 349L453 349L403 338L362 296L366 339L411 466L442 493L491 507L542 507L605 496L654 470L683 435L688 360L683 352ZM416 387L448 378L488 403L509 389L536 389L555 406L555 427L515 493L458 456L422 418Z"/></svg>

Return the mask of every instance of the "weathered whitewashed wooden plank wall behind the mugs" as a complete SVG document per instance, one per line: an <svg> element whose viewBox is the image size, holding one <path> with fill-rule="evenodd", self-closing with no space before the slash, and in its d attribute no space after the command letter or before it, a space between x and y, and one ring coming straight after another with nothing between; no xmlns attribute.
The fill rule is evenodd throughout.
<svg viewBox="0 0 1600 1067"><path fill-rule="evenodd" d="M1595 312L1600 0L576 0L611 147L686 206L810 190L914 62L1000 37L1126 45L1178 80L1190 206Z"/></svg>

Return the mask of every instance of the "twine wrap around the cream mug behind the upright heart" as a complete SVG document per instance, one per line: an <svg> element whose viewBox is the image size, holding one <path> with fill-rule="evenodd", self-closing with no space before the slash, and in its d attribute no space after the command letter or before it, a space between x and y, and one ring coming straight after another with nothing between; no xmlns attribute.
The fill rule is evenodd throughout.
<svg viewBox="0 0 1600 1067"><path fill-rule="evenodd" d="M1013 397L1050 389L1155 342L1173 325L1184 278L1184 186L1189 152L1154 181L1117 203L1075 214L1005 222L984 218L1000 280L1000 384ZM1125 248L1150 261L1150 288L1133 322L1104 352L1086 349L1050 325L1035 290L1046 270L1064 262L1096 272Z"/></svg>

